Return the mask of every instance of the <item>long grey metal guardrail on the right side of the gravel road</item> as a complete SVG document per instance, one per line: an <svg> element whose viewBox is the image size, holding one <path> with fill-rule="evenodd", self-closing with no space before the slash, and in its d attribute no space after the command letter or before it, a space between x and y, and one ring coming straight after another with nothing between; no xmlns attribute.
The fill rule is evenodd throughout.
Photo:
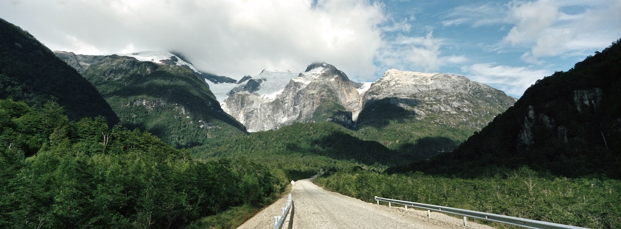
<svg viewBox="0 0 621 229"><path fill-rule="evenodd" d="M506 216L506 215L498 215L498 214L486 213L486 212L476 212L476 211L473 211L473 210L465 210L465 209L455 209L455 208L452 208L452 207L443 207L443 206L431 205L431 204L421 204L421 203L417 203L417 202L409 202L409 201L404 201L404 200L388 199L388 198L382 198L382 197L377 197L377 196L375 197L375 200L378 202L378 205L379 205L380 201L388 202L388 206L389 207L392 207L391 204L404 205L406 207L406 210L407 210L407 206L417 207L419 209L427 209L427 217L431 217L430 210L433 210L435 212L443 212L443 213L451 213L451 214L455 214L455 215L461 215L461 216L464 217L464 226L466 226L466 227L468 226L467 217L471 217L471 218L478 218L478 219L481 219L481 220L489 220L489 221L493 221L493 222L505 223L505 224L514 225L514 226L518 226L518 227L525 227L525 228L543 228L543 229L558 229L558 228L578 229L578 228L583 228L583 227L564 225L564 224L560 224L560 223L550 223L550 222L543 222L543 221L539 221L539 220L529 220L527 218L510 217L510 216Z"/></svg>

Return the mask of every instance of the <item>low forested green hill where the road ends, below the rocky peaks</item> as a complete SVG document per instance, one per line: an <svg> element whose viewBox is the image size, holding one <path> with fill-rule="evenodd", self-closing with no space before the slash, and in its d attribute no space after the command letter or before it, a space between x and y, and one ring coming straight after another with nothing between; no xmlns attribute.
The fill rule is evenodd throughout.
<svg viewBox="0 0 621 229"><path fill-rule="evenodd" d="M212 141L192 148L197 158L248 158L283 168L289 179L308 178L330 169L351 169L356 163L397 163L396 155L374 141L335 123L294 123L278 130Z"/></svg>

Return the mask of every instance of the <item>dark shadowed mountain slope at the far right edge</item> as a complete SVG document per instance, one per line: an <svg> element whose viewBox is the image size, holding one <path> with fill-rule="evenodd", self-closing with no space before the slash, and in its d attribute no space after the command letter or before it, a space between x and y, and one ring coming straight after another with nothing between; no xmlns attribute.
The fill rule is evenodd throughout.
<svg viewBox="0 0 621 229"><path fill-rule="evenodd" d="M528 166L556 176L621 179L621 40L540 79L457 150L409 168L485 176Z"/></svg>

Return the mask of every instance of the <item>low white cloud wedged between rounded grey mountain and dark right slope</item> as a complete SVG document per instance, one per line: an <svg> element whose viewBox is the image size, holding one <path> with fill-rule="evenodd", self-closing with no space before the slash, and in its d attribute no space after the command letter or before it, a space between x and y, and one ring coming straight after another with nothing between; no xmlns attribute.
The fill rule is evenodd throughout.
<svg viewBox="0 0 621 229"><path fill-rule="evenodd" d="M489 84L514 97L521 97L528 87L535 84L537 79L552 74L549 70L533 70L527 67L495 65L493 63L464 66L461 71L465 72L466 76L473 81Z"/></svg>

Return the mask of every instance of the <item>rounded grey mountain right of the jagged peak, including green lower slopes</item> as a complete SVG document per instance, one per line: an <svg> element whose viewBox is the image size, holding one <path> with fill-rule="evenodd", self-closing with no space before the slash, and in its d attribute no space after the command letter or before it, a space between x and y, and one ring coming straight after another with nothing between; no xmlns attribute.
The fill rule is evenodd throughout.
<svg viewBox="0 0 621 229"><path fill-rule="evenodd" d="M453 150L515 99L463 76L388 70L363 94L365 139L417 158Z"/></svg>

